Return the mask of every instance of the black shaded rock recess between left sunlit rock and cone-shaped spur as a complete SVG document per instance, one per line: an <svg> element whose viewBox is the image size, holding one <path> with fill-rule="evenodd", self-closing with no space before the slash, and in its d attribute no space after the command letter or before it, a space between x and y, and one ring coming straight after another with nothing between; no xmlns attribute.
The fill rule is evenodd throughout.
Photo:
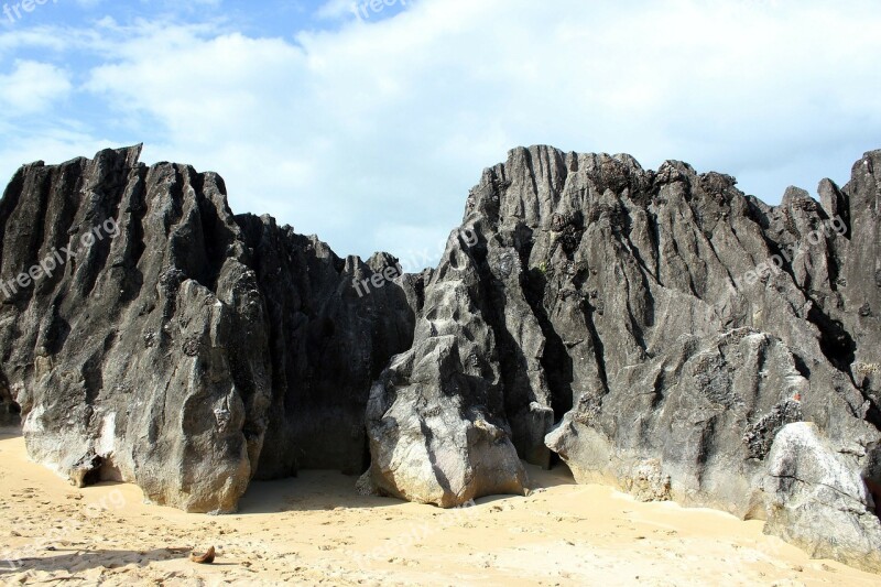
<svg viewBox="0 0 881 587"><path fill-rule="evenodd" d="M314 237L279 228L272 218L237 217L267 305L272 366L267 442L258 477L298 468L361 474L369 465L365 410L389 359L413 340L412 279L356 290L396 260L346 260Z"/></svg>

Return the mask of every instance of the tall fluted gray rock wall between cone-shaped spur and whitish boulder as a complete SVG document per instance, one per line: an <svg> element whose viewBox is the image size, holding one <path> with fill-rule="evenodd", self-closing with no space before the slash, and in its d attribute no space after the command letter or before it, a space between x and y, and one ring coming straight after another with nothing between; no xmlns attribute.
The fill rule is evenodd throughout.
<svg viewBox="0 0 881 587"><path fill-rule="evenodd" d="M866 268L881 267L880 155L844 188L824 182L825 209L796 188L771 207L730 176L628 155L536 146L487 170L463 226L482 247L474 305L500 349L531 349L504 352L518 359L503 394L520 456L542 461L545 426L579 481L763 519L769 450L806 421L878 483L881 325ZM553 430L525 405L553 413ZM814 540L831 548L826 530Z"/></svg>

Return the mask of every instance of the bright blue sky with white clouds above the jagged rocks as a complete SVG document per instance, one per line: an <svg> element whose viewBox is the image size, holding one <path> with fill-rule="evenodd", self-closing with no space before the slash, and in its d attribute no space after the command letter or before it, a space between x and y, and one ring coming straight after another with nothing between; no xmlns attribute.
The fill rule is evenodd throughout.
<svg viewBox="0 0 881 587"><path fill-rule="evenodd" d="M0 183L144 143L411 271L514 146L687 161L770 204L881 149L877 0L0 2Z"/></svg>

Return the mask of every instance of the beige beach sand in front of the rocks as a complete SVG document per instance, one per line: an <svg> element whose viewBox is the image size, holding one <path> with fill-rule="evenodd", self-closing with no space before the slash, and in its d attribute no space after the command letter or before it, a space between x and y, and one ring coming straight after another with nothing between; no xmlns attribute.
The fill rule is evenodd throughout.
<svg viewBox="0 0 881 587"><path fill-rule="evenodd" d="M307 471L254 483L241 514L143 503L131 485L76 489L0 434L0 568L9 584L58 585L881 585L764 536L761 522L639 503L563 471L530 468L526 498L444 511L360 497L355 479ZM216 546L216 564L188 561Z"/></svg>

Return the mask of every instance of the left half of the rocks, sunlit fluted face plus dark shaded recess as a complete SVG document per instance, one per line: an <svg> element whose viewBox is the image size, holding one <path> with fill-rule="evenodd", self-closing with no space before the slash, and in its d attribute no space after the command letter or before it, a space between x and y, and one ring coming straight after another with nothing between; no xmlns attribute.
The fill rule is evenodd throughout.
<svg viewBox="0 0 881 587"><path fill-rule="evenodd" d="M412 336L402 289L356 304L344 284L368 267L233 217L217 175L139 151L28 165L0 202L4 404L31 456L198 512L235 510L254 476L360 472L370 382Z"/></svg>

